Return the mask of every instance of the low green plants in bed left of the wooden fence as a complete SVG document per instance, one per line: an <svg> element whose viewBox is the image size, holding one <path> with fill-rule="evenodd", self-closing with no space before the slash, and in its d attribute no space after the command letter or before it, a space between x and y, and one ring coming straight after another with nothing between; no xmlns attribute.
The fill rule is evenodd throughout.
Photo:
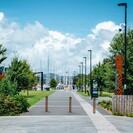
<svg viewBox="0 0 133 133"><path fill-rule="evenodd" d="M112 111L112 101L110 100L103 100L98 102L98 105L102 106L103 108Z"/></svg>

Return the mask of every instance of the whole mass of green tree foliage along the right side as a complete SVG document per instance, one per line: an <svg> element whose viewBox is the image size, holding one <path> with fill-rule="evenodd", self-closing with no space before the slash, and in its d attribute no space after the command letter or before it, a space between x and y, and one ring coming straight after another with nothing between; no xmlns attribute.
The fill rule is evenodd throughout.
<svg viewBox="0 0 133 133"><path fill-rule="evenodd" d="M94 66L93 79L98 80L98 89L107 92L115 90L115 55L119 53L123 57L124 74L124 34L116 34L110 44L110 56L102 63ZM133 30L127 33L127 89L133 89ZM90 75L88 75L90 76Z"/></svg>

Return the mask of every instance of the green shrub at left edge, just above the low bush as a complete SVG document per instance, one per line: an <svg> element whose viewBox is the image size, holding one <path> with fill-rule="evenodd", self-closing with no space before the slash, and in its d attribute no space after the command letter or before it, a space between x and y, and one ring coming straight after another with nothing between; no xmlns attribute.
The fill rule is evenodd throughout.
<svg viewBox="0 0 133 133"><path fill-rule="evenodd" d="M0 82L0 94L3 94L5 96L15 95L17 94L16 89L17 89L17 83L16 82L12 83L9 80L8 76L4 77Z"/></svg>

